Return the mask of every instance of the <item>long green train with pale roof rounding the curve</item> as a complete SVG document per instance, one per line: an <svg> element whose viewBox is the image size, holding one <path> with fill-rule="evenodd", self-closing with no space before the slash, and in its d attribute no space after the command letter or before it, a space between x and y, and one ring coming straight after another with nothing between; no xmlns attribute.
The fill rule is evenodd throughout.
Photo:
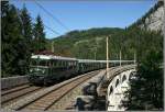
<svg viewBox="0 0 165 112"><path fill-rule="evenodd" d="M119 61L110 63L117 66ZM52 85L87 71L106 68L106 60L77 59L55 55L32 55L29 81L32 85Z"/></svg>

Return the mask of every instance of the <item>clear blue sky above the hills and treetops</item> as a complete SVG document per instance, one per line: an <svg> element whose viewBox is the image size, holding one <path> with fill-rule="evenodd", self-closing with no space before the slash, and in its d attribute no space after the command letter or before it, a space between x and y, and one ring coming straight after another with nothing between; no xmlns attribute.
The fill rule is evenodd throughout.
<svg viewBox="0 0 165 112"><path fill-rule="evenodd" d="M11 0L10 2L18 9L22 9L25 4L33 19L40 14L45 24L46 38L54 38L74 30L124 29L145 14L156 0L36 0L65 26L47 14L33 0ZM33 20L33 22L35 21Z"/></svg>

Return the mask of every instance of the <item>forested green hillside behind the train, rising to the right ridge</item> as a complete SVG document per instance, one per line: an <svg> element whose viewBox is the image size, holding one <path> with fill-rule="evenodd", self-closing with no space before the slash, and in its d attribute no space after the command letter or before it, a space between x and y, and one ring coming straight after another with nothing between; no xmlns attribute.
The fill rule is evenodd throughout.
<svg viewBox="0 0 165 112"><path fill-rule="evenodd" d="M161 48L162 51L162 31L147 30L147 25L142 27L142 24L146 24L145 20L162 5L162 1L157 2L145 15L125 29L96 27L84 31L72 31L52 40L54 52L56 55L62 56L106 59L107 36L109 36L110 59L119 59L120 51L122 59L133 59L134 54L141 55L142 58L150 47ZM140 51L139 54L138 51Z"/></svg>

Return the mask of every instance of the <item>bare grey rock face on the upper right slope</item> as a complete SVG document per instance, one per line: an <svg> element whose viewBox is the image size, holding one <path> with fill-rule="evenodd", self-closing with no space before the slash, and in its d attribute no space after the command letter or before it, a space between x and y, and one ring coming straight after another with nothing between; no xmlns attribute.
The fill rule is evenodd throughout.
<svg viewBox="0 0 165 112"><path fill-rule="evenodd" d="M151 13L146 19L145 23L141 24L140 27L144 27L151 31L163 31L164 23L164 5L160 7L156 11Z"/></svg>

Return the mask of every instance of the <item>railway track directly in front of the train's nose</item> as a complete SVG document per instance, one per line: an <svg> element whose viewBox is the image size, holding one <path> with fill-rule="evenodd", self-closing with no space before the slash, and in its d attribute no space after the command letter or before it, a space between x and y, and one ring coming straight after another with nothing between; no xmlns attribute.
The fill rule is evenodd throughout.
<svg viewBox="0 0 165 112"><path fill-rule="evenodd" d="M3 90L1 91L1 105L6 107L19 100L20 98L36 92L37 90L41 89L42 87L23 85L23 86L15 87L13 89Z"/></svg>

